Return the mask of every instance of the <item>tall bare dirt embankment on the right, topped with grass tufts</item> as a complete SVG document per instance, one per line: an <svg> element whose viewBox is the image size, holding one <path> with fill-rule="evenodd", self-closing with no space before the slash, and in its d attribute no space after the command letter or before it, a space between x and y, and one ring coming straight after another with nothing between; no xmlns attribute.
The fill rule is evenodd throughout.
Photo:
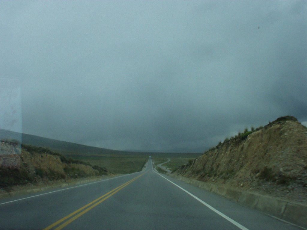
<svg viewBox="0 0 307 230"><path fill-rule="evenodd" d="M173 172L307 204L307 128L295 117L225 140Z"/></svg>

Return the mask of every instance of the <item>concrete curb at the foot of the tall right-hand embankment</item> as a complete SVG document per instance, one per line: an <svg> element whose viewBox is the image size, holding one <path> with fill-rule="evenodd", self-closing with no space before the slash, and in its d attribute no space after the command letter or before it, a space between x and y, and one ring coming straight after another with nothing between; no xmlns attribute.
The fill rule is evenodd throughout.
<svg viewBox="0 0 307 230"><path fill-rule="evenodd" d="M214 184L167 174L177 180L199 187L203 190L226 197L240 205L256 209L278 219L285 220L303 228L307 228L307 206L280 200L274 197L264 196L246 191L217 186Z"/></svg>

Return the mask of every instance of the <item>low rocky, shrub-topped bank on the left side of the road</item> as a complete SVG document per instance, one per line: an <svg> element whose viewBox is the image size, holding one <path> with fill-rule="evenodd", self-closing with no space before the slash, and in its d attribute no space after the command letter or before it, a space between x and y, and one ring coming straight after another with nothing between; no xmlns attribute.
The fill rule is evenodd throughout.
<svg viewBox="0 0 307 230"><path fill-rule="evenodd" d="M12 143L2 141L0 145L0 190L10 190L15 185L110 174L106 168L67 159L47 148L22 145L20 151L18 144Z"/></svg>

